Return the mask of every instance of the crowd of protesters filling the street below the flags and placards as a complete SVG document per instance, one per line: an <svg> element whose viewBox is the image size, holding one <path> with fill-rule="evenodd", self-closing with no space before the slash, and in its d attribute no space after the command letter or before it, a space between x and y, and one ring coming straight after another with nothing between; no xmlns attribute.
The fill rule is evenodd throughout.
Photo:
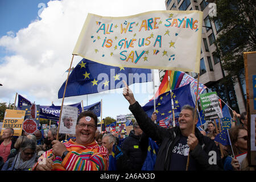
<svg viewBox="0 0 256 182"><path fill-rule="evenodd" d="M14 130L6 128L1 136L0 169L2 171L251 171L247 157L239 162L235 156L247 151L247 115L233 111L232 127L229 129L232 146L215 142L218 131L214 122L208 122L205 132L195 126L195 108L182 107L179 126L164 128L155 122L135 100L126 85L123 96L136 121L129 136L120 139L114 133L97 130L97 116L84 111L77 118L76 134L57 134L57 128L49 129L47 137L40 130L34 134L23 133L14 137ZM241 125L238 125L240 119ZM192 129L195 127L195 132ZM155 158L148 156L149 141L158 146ZM216 162L210 163L210 152L215 152ZM189 161L188 161L189 157ZM147 167L150 160L151 168Z"/></svg>

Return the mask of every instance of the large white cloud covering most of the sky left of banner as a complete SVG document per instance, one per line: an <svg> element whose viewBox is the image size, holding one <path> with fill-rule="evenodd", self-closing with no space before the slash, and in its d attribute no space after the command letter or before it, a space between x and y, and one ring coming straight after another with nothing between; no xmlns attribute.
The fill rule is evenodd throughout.
<svg viewBox="0 0 256 182"><path fill-rule="evenodd" d="M127 16L145 11L165 10L164 0L49 1L48 6L27 28L8 32L0 46L14 53L0 64L0 102L14 100L15 93L33 96L36 102L61 103L57 92L67 78L73 48L88 13ZM15 22L14 22L15 23ZM81 57L73 60L75 66ZM90 97L90 96L89 96ZM31 98L31 97L29 97ZM67 101L79 102L72 97ZM66 98L65 98L66 100ZM31 100L32 101L32 100Z"/></svg>

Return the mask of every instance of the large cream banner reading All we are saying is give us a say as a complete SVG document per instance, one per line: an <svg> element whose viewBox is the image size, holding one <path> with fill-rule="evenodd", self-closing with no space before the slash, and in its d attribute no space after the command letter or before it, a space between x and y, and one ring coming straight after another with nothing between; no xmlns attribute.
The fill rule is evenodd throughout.
<svg viewBox="0 0 256 182"><path fill-rule="evenodd" d="M199 73L202 11L88 14L73 55L101 64Z"/></svg>

